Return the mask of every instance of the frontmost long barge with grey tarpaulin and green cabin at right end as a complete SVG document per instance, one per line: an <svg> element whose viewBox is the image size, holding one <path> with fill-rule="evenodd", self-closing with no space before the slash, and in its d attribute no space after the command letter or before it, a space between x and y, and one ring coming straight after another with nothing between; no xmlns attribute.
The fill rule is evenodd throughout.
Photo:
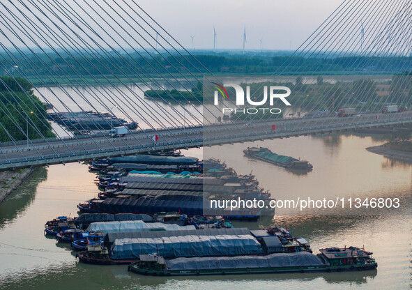
<svg viewBox="0 0 412 290"><path fill-rule="evenodd" d="M227 274L268 274L373 270L378 264L372 252L358 247L321 249L310 252L273 253L266 256L193 257L164 259L142 254L128 270L141 275L188 276Z"/></svg>

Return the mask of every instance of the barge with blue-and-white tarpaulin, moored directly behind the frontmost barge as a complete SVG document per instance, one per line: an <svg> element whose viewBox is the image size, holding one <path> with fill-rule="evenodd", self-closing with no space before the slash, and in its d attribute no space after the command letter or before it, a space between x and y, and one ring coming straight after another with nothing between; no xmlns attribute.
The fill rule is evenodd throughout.
<svg viewBox="0 0 412 290"><path fill-rule="evenodd" d="M188 229L109 233L102 246L89 247L77 257L86 264L119 265L153 252L176 258L263 254L264 250L249 229Z"/></svg>

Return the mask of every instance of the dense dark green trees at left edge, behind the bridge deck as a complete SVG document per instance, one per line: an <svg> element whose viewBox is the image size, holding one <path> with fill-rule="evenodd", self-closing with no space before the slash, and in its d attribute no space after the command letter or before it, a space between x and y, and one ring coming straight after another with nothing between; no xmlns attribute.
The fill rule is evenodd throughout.
<svg viewBox="0 0 412 290"><path fill-rule="evenodd" d="M26 140L27 123L30 139L41 138L40 133L44 137L54 137L46 116L45 105L33 94L26 79L0 77L0 142L12 141L7 132L15 141Z"/></svg>

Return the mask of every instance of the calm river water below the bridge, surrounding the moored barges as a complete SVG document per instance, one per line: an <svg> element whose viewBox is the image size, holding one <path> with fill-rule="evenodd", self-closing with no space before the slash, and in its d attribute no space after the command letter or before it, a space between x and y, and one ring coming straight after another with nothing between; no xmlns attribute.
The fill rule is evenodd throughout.
<svg viewBox="0 0 412 290"><path fill-rule="evenodd" d="M354 245L374 252L377 270L354 273L295 273L287 275L227 275L211 277L142 277L127 266L79 264L68 246L43 236L45 221L77 215L76 205L96 197L96 175L84 164L38 169L0 205L0 289L411 289L412 167L367 146L381 144L365 136L333 135L268 140L253 145L309 160L314 170L296 174L248 160L242 151L252 144L190 149L201 158L214 153L239 174L252 173L277 199L291 197L399 197L402 208L386 215L294 215L278 210L275 219L234 222L236 227L287 226L294 236L321 247ZM316 213L316 212L314 212Z"/></svg>

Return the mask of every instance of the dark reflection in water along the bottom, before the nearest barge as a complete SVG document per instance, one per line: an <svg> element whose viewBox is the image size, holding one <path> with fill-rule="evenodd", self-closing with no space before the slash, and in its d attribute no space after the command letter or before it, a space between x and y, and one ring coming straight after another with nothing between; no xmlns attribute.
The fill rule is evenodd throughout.
<svg viewBox="0 0 412 290"><path fill-rule="evenodd" d="M261 275L217 275L199 277L148 277L136 275L127 271L127 266L93 266L91 270L84 264L66 264L63 267L40 268L40 273L34 276L22 272L18 277L8 277L0 285L0 289L277 289L305 284L367 284L377 275L377 270L353 272L350 275L342 273L291 273L291 274L261 274ZM62 275L63 273L63 275ZM76 286L77 285L77 286ZM236 285L236 286L235 286ZM289 286L288 286L289 285Z"/></svg>

